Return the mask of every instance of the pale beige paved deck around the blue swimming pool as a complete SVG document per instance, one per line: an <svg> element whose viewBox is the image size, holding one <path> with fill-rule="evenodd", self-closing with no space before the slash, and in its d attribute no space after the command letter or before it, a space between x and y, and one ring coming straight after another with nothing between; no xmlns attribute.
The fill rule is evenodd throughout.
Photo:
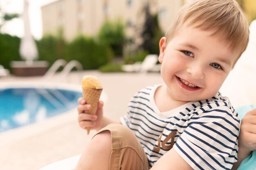
<svg viewBox="0 0 256 170"><path fill-rule="evenodd" d="M64 83L81 85L83 75L97 76L103 86L104 113L118 120L126 113L128 102L139 89L162 83L159 73L100 73L97 71L72 72ZM41 77L7 77L3 82L38 82ZM54 81L54 78L51 79ZM81 87L79 87L81 88ZM33 125L0 134L1 170L36 170L43 166L81 154L88 140L85 130L79 128L76 109Z"/></svg>

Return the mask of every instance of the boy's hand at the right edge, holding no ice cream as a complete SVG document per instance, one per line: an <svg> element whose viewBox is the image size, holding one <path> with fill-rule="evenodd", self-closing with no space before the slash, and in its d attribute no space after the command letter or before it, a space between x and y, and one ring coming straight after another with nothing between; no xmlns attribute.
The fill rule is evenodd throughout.
<svg viewBox="0 0 256 170"><path fill-rule="evenodd" d="M242 119L238 145L247 152L256 150L256 109L247 112Z"/></svg>

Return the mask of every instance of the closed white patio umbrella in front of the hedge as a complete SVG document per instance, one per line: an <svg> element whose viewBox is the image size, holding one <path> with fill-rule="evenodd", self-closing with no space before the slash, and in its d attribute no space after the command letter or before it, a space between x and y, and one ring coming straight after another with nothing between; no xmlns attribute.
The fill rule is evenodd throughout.
<svg viewBox="0 0 256 170"><path fill-rule="evenodd" d="M20 42L20 56L23 60L26 60L27 65L32 65L33 60L38 59L38 51L36 47L36 42L31 35L30 22L29 22L29 2L24 0L23 9L23 22L24 22L24 36Z"/></svg>

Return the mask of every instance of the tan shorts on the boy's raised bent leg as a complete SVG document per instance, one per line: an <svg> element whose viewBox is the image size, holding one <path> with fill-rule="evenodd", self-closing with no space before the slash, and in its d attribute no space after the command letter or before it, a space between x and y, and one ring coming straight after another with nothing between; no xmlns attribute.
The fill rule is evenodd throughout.
<svg viewBox="0 0 256 170"><path fill-rule="evenodd" d="M110 170L148 170L148 159L135 134L121 124L109 124L97 132L111 133ZM96 135L97 135L96 134Z"/></svg>

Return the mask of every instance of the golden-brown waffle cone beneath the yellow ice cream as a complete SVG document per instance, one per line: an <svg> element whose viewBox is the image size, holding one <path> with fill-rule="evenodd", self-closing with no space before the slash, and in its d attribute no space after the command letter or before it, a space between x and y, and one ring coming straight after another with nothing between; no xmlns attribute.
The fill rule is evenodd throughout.
<svg viewBox="0 0 256 170"><path fill-rule="evenodd" d="M83 88L83 99L92 106L92 109L85 110L86 114L96 114L101 92L102 89Z"/></svg>

